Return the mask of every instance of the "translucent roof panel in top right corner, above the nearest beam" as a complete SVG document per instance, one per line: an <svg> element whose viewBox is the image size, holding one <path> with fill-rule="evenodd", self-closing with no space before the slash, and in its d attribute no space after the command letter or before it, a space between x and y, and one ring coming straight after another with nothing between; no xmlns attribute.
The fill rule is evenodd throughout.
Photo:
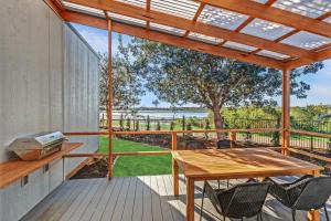
<svg viewBox="0 0 331 221"><path fill-rule="evenodd" d="M291 11L305 17L318 18L331 11L330 0L277 0L273 7Z"/></svg>

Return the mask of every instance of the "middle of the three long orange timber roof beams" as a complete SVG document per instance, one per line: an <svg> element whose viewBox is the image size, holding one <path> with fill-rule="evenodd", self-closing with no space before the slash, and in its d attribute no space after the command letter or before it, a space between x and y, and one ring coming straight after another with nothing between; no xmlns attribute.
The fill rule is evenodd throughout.
<svg viewBox="0 0 331 221"><path fill-rule="evenodd" d="M273 42L261 38L237 33L226 29L216 28L211 24L205 24L202 22L192 22L192 20L183 19L180 17L152 11L147 12L146 10L117 1L107 0L67 0L68 2L82 4L85 7L90 7L95 9L111 11L114 13L119 13L122 15L146 20L150 22L156 22L169 27L174 27L178 29L197 32L201 34L224 39L227 41L234 41L242 44L252 45L258 49L264 49L268 51L278 52L281 54L287 54L295 57L301 57L308 62L313 61L316 54L305 49L297 46L291 46L282 43Z"/></svg>

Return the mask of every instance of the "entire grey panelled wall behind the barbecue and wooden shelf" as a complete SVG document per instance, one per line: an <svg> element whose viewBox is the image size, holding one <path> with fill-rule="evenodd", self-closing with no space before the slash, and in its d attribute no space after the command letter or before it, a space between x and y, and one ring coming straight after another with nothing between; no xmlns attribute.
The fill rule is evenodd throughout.
<svg viewBox="0 0 331 221"><path fill-rule="evenodd" d="M17 137L98 129L98 57L42 0L0 0L0 164ZM97 137L75 151L95 151ZM0 189L0 220L15 221L83 159L57 160Z"/></svg>

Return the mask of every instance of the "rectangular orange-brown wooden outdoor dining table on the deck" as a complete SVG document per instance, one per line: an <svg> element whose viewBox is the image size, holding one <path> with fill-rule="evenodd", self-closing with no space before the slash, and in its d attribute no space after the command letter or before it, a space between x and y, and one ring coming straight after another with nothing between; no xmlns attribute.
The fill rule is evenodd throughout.
<svg viewBox="0 0 331 221"><path fill-rule="evenodd" d="M194 220L194 181L286 175L319 176L323 169L266 148L174 150L172 157L175 196L179 194L179 167L186 177L188 221ZM319 211L309 212L309 219L319 220Z"/></svg>

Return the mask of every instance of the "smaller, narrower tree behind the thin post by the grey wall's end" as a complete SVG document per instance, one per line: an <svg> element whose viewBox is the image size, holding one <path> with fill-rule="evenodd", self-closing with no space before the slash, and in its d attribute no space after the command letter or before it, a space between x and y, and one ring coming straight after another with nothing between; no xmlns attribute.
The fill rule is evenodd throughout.
<svg viewBox="0 0 331 221"><path fill-rule="evenodd" d="M128 49L122 46L121 35L119 35L118 42L118 53L111 57L113 106L127 109L140 103L140 96L143 95L145 91L141 80L130 63ZM108 55L100 54L99 56L99 102L108 114Z"/></svg>

